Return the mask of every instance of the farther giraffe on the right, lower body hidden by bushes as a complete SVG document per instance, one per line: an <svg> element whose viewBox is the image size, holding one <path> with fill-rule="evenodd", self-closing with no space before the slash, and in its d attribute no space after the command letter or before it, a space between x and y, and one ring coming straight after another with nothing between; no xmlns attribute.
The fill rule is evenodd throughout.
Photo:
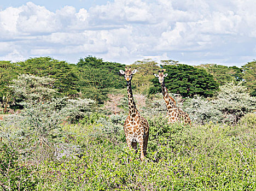
<svg viewBox="0 0 256 191"><path fill-rule="evenodd" d="M154 75L155 75L155 77L158 77L158 80L162 86L162 96L164 96L165 105L167 108L168 123L185 122L185 123L191 124L189 115L186 112L180 110L177 107L174 99L172 97L170 97L168 94L167 88L165 87L165 77L168 74L164 74L163 70L162 70L162 72L160 72L160 70L159 70L158 73L159 74L154 74Z"/></svg>

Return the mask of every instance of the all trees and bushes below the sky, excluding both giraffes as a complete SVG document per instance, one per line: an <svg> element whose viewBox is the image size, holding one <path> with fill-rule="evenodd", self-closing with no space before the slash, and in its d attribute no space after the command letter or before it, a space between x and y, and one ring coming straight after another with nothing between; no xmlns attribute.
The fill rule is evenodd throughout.
<svg viewBox="0 0 256 191"><path fill-rule="evenodd" d="M256 190L255 61L130 66L150 126L143 162L123 132L124 64L0 61L0 190ZM192 126L167 124L158 70Z"/></svg>

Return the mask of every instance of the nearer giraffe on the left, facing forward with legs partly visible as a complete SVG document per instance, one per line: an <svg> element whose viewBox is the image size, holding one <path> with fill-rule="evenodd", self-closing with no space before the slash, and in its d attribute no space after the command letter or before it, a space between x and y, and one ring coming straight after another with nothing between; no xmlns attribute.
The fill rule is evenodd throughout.
<svg viewBox="0 0 256 191"><path fill-rule="evenodd" d="M141 160L147 154L148 136L149 136L149 124L145 118L139 114L136 108L135 102L132 96L131 80L132 75L137 72L137 69L131 71L131 67L125 71L119 70L124 75L127 82L127 95L129 100L129 115L127 116L124 123L124 133L129 150L131 147L137 152L137 142L141 150Z"/></svg>

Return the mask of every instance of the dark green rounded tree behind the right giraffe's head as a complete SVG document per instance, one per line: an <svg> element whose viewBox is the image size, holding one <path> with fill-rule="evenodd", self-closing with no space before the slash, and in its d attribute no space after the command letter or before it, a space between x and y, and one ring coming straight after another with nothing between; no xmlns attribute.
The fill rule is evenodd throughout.
<svg viewBox="0 0 256 191"><path fill-rule="evenodd" d="M204 97L211 97L218 89L218 83L213 76L203 69L197 69L190 65L176 64L164 65L168 73L165 77L165 85L168 92L181 94L183 97L193 97L196 94ZM150 93L161 91L161 86L156 77L153 79L154 87Z"/></svg>

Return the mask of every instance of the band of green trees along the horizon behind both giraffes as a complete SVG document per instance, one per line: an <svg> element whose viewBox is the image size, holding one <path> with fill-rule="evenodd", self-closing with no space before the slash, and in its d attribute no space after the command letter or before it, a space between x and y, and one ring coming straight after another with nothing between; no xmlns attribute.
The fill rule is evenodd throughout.
<svg viewBox="0 0 256 191"><path fill-rule="evenodd" d="M18 103L24 98L15 96L11 85L19 76L26 74L54 79L50 86L55 89L56 97L90 98L103 104L108 99L107 94L126 91L126 82L119 74L119 69L125 66L117 62L104 62L102 58L93 56L80 58L76 64L51 57L29 58L14 63L0 61L0 101L4 111L20 107ZM220 85L231 81L243 83L251 96L256 96L255 60L238 68L218 64L191 66L172 60L157 63L152 59L143 59L130 67L138 69L132 80L133 91L147 96L161 92L158 79L153 75L158 70L168 73L165 79L168 91L182 97L213 97Z"/></svg>

